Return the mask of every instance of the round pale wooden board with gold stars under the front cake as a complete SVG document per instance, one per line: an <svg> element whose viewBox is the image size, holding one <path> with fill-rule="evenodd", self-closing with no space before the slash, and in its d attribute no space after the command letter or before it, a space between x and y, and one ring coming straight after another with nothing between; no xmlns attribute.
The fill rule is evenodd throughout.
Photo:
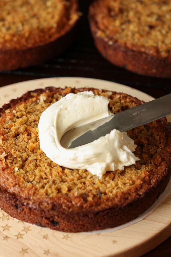
<svg viewBox="0 0 171 257"><path fill-rule="evenodd" d="M0 88L0 105L28 90L68 86L67 79L46 79L17 83ZM138 90L116 83L73 78L70 85L103 87L152 99ZM112 87L112 88L111 88ZM12 96L12 97L11 97ZM0 257L138 257L158 246L171 235L171 193L149 216L116 231L63 233L13 219L0 210Z"/></svg>

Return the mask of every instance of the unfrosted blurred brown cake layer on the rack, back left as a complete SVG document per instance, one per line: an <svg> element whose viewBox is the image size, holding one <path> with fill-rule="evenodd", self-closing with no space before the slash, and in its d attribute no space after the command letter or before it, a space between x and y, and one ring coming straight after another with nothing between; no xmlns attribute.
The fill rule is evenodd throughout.
<svg viewBox="0 0 171 257"><path fill-rule="evenodd" d="M0 7L0 70L43 63L74 38L77 0L1 1Z"/></svg>

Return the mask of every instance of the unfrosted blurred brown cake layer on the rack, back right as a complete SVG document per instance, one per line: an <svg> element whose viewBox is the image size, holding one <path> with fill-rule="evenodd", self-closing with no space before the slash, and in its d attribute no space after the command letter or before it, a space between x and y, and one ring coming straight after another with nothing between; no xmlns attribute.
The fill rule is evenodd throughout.
<svg viewBox="0 0 171 257"><path fill-rule="evenodd" d="M171 1L96 0L89 9L95 45L111 63L142 75L171 77Z"/></svg>

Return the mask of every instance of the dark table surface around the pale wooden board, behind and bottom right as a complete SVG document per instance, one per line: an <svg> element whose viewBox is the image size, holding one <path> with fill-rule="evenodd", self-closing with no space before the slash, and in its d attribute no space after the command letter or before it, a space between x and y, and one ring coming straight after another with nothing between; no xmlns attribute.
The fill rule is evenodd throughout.
<svg viewBox="0 0 171 257"><path fill-rule="evenodd" d="M87 10L90 0L80 0L80 19L75 41L63 54L39 66L0 72L0 87L20 81L49 77L97 78L121 83L143 91L155 98L171 93L171 79L137 75L113 66L96 50L88 26ZM171 235L171 231L170 231ZM160 235L159 235L160 236ZM143 257L171 256L171 236Z"/></svg>

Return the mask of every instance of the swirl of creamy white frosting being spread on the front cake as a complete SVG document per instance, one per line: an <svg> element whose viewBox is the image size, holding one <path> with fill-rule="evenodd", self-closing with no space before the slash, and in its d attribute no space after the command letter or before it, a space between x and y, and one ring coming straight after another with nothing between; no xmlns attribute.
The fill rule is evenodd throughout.
<svg viewBox="0 0 171 257"><path fill-rule="evenodd" d="M69 93L49 106L38 124L40 147L53 162L70 169L86 169L102 177L107 171L135 164L136 145L126 132L112 130L106 136L76 148L64 148L60 141L68 130L107 117L109 99L90 92Z"/></svg>

